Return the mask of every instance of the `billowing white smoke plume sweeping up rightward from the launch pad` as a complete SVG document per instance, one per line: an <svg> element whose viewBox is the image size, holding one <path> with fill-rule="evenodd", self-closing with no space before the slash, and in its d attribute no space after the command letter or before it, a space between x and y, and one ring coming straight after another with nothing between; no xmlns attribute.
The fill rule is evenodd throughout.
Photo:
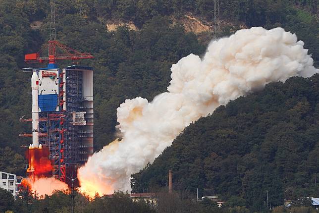
<svg viewBox="0 0 319 213"><path fill-rule="evenodd" d="M312 76L318 69L303 45L282 28L253 27L213 41L202 59L194 54L180 59L171 67L168 92L117 108L123 138L79 169L81 189L91 195L130 190L130 175L153 162L191 122L269 82Z"/></svg>

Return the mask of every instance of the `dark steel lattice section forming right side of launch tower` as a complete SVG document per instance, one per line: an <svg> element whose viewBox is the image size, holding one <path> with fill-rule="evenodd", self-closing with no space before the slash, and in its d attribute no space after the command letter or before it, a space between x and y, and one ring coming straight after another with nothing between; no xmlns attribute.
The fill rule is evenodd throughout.
<svg viewBox="0 0 319 213"><path fill-rule="evenodd" d="M87 67L86 67L87 68ZM68 113L68 164L78 167L84 164L93 154L93 90L87 96L91 87L90 76L81 67L66 69L66 111Z"/></svg>

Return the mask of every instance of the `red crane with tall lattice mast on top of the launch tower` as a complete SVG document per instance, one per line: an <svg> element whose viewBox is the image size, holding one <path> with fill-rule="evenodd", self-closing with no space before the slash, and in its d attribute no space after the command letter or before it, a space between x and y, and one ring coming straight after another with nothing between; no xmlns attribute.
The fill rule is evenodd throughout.
<svg viewBox="0 0 319 213"><path fill-rule="evenodd" d="M42 57L40 54L44 49L40 50L38 53L31 53L25 55L26 63L42 63L49 62L49 65L55 64L56 60L71 59L78 60L82 58L94 58L91 53L80 53L72 48L69 48L58 41L55 40L55 2L51 3L51 22L50 22L50 40L49 40L49 50L48 56ZM60 53L57 52L59 50ZM53 65L54 66L54 65Z"/></svg>

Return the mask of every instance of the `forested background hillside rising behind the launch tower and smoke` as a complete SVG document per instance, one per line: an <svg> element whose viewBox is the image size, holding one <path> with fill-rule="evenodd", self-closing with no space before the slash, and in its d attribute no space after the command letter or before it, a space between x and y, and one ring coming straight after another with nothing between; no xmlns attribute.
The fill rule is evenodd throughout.
<svg viewBox="0 0 319 213"><path fill-rule="evenodd" d="M25 175L23 149L31 131L19 118L31 117L30 75L22 67L25 53L36 53L50 33L49 0L0 0L0 170ZM56 38L80 52L95 55L79 64L94 69L95 151L115 139L116 108L138 96L152 100L165 92L170 67L190 54L202 55L211 32L186 32L178 22L186 15L212 23L212 0L55 0ZM305 42L319 61L316 0L222 0L221 36L252 26L284 27ZM138 29L107 29L114 21ZM230 23L224 25L223 23ZM204 39L203 39L204 38ZM71 61L59 62L68 66Z"/></svg>

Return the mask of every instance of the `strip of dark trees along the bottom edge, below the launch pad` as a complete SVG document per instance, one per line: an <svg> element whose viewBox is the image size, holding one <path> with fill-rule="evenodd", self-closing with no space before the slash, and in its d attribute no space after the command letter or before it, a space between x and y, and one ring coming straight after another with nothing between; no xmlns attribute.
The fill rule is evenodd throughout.
<svg viewBox="0 0 319 213"><path fill-rule="evenodd" d="M242 199L232 197L222 206L210 199L185 199L178 193L161 190L152 200L130 198L130 194L115 192L112 198L96 195L89 198L75 192L74 203L69 191L55 191L51 196L39 196L27 191L15 199L0 188L0 213L250 213ZM267 212L267 211L265 211ZM309 199L296 201L289 208L277 207L268 213L317 213Z"/></svg>

